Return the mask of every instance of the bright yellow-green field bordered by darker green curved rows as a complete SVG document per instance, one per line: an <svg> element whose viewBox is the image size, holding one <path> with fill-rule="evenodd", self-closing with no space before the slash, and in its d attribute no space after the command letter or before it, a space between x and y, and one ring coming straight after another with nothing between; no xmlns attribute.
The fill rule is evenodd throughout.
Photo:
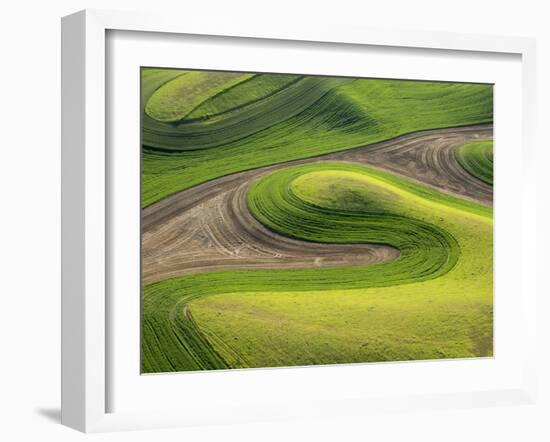
<svg viewBox="0 0 550 442"><path fill-rule="evenodd" d="M196 324L224 359L266 367L492 356L491 215L346 170L303 174L291 190L326 209L381 210L436 225L456 239L459 259L443 276L417 283L190 301Z"/></svg>

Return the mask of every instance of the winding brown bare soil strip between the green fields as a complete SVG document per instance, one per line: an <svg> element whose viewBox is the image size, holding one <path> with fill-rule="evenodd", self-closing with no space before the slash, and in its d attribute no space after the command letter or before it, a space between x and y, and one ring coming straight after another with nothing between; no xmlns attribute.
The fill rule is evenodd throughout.
<svg viewBox="0 0 550 442"><path fill-rule="evenodd" d="M204 271L334 267L396 259L399 251L385 245L311 243L272 232L249 213L248 186L291 164L350 161L490 205L492 187L466 173L454 155L459 145L490 137L491 125L409 134L221 177L174 194L142 210L143 283Z"/></svg>

